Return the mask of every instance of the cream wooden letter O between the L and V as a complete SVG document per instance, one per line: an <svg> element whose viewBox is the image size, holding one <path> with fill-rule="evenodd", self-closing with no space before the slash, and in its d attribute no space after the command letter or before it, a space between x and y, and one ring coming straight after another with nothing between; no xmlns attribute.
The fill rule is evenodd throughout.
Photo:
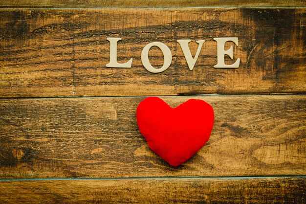
<svg viewBox="0 0 306 204"><path fill-rule="evenodd" d="M151 65L151 63L149 61L149 50L153 46L157 46L163 52L164 65L161 68L153 68L153 66ZM150 71L152 73L162 72L162 71L166 70L167 68L169 68L170 65L171 65L171 62L172 62L171 50L169 49L169 47L167 45L165 45L163 43L160 43L160 42L150 43L150 44L146 45L141 52L141 62L142 62L142 65L148 71Z"/></svg>

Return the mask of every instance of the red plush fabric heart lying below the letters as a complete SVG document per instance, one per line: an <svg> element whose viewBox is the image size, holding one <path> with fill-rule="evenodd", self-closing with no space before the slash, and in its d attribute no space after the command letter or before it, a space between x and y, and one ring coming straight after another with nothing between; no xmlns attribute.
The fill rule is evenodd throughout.
<svg viewBox="0 0 306 204"><path fill-rule="evenodd" d="M148 97L138 105L136 118L150 148L170 165L178 166L209 139L214 111L203 100L190 99L171 108L158 97Z"/></svg>

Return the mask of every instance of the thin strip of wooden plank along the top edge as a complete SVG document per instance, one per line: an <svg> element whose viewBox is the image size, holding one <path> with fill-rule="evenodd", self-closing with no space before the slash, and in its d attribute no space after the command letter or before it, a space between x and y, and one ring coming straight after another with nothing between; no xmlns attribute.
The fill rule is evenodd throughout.
<svg viewBox="0 0 306 204"><path fill-rule="evenodd" d="M0 8L306 6L305 0L0 0Z"/></svg>

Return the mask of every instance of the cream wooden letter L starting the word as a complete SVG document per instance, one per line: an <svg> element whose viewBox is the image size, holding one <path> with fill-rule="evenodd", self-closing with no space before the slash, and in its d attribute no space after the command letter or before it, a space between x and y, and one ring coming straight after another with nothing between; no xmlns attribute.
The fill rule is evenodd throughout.
<svg viewBox="0 0 306 204"><path fill-rule="evenodd" d="M107 68L131 68L133 58L129 60L127 63L118 63L117 62L117 42L121 41L121 38L107 38L110 42L110 49L109 49L109 64L106 65Z"/></svg>

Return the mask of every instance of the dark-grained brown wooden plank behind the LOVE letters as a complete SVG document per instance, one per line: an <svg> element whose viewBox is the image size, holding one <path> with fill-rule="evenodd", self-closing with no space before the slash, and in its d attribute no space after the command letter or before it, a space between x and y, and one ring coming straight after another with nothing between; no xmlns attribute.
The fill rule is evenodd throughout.
<svg viewBox="0 0 306 204"><path fill-rule="evenodd" d="M2 9L0 97L306 93L305 14L304 8ZM118 61L133 58L132 68L106 68L107 37L123 39ZM214 37L239 38L239 68L213 68ZM179 39L192 40L192 53L195 41L205 40L192 71ZM169 46L173 61L153 74L140 56L155 41ZM150 60L161 67L161 51L152 49Z"/></svg>

